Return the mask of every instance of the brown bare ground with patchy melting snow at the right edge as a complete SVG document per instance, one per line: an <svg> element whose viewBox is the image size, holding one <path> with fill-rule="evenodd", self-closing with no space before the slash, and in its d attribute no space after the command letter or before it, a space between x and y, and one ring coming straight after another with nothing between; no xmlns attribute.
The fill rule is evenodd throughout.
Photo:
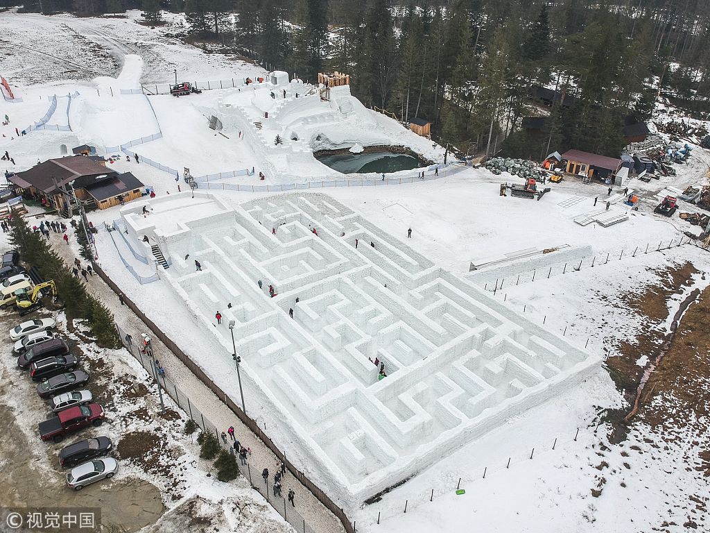
<svg viewBox="0 0 710 533"><path fill-rule="evenodd" d="M611 353L606 360L607 370L627 403L622 409L606 413L606 420L611 426L608 434L611 449L600 443L598 455L618 458L620 454L623 461L629 454L643 454L639 446L627 446L628 443L624 442L627 436L633 435L637 441L645 443L648 459L643 468L662 468L655 465L656 460L664 462L667 457L679 456L674 468L687 470L698 478L710 478L710 453L707 451L710 448L707 432L710 286L699 292L697 300L682 315L675 335L670 335L667 329L669 308L678 306L677 303L670 306L670 299L677 294L690 294L694 280L704 280L706 274L699 273L690 263L668 267L657 274L659 283L637 294L621 296L623 305L643 317L643 325L633 340L609 340ZM643 356L648 358L649 363L638 365ZM632 411L641 377L648 365L655 361L657 366L640 393L638 412L625 422L623 419ZM604 461L599 470L603 470L603 464ZM628 470L627 475L633 475L628 463L624 462L623 466ZM611 476L599 476L599 483L591 489L592 495L601 495L606 478L611 479ZM666 532L672 527L708 530L706 519L710 499L707 491L693 493L679 488L675 497L665 490L663 494L669 497L669 515L673 507L673 512L682 513L685 519L680 522L661 521L653 528L654 531ZM682 495L685 501L678 501L678 495ZM673 500L676 501L671 504Z"/></svg>

